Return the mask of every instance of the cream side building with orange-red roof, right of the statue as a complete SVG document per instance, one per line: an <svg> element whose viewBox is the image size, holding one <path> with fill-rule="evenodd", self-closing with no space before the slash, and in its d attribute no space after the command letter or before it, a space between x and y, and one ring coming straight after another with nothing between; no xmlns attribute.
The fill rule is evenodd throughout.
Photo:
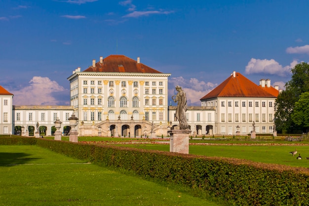
<svg viewBox="0 0 309 206"><path fill-rule="evenodd" d="M201 106L215 107L214 134L235 135L237 130L246 135L272 133L274 103L279 94L270 80L260 80L260 85L251 82L238 72L203 96Z"/></svg>

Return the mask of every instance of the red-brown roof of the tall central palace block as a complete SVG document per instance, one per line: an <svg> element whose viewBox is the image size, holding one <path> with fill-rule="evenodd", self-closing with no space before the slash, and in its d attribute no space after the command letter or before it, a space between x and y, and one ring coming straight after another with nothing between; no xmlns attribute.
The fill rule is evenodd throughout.
<svg viewBox="0 0 309 206"><path fill-rule="evenodd" d="M161 73L124 55L110 55L83 72Z"/></svg>

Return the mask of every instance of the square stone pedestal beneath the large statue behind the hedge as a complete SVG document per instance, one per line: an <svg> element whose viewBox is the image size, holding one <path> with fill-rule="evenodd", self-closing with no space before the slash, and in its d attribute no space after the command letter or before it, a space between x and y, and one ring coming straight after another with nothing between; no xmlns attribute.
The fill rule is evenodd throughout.
<svg viewBox="0 0 309 206"><path fill-rule="evenodd" d="M170 134L170 152L189 154L189 129L174 129L167 131Z"/></svg>

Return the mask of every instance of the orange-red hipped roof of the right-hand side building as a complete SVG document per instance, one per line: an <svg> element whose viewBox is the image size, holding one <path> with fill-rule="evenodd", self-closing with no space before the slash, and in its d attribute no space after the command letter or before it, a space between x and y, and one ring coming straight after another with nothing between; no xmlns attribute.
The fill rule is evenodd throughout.
<svg viewBox="0 0 309 206"><path fill-rule="evenodd" d="M200 100L215 98L215 97L269 97L276 98L279 91L273 87L258 86L254 82L245 78L240 73L236 72L235 77L231 75L228 79L214 88Z"/></svg>

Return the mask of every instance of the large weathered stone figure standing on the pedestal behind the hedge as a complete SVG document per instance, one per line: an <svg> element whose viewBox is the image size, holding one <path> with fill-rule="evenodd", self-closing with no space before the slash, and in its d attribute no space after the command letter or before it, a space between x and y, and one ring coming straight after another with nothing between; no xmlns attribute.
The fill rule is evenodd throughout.
<svg viewBox="0 0 309 206"><path fill-rule="evenodd" d="M178 91L177 95L173 95L172 99L174 102L177 102L176 108L176 118L179 121L178 126L180 129L188 129L189 125L187 123L186 112L187 112L187 96L186 92L177 85L176 90ZM173 98L175 97L175 99Z"/></svg>

